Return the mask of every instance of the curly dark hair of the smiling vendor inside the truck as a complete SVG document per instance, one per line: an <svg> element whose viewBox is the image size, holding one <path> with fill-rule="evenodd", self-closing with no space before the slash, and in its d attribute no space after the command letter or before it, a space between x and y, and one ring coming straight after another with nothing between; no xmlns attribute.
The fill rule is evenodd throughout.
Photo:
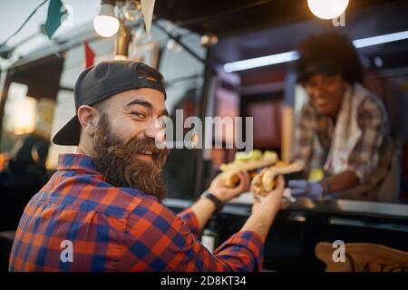
<svg viewBox="0 0 408 290"><path fill-rule="evenodd" d="M300 58L296 62L296 71L299 75L305 72L308 63L328 59L338 63L346 82L354 84L364 80L364 66L355 46L345 34L312 34L299 45L298 52Z"/></svg>

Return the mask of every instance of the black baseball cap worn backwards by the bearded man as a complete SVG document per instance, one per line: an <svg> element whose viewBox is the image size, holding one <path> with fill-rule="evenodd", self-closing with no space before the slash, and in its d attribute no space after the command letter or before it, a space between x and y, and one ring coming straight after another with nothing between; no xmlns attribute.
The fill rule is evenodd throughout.
<svg viewBox="0 0 408 290"><path fill-rule="evenodd" d="M75 111L82 105L92 105L113 95L129 90L151 88L162 92L166 100L163 76L145 63L132 61L102 62L83 71L73 89ZM75 114L53 136L57 145L79 144L81 123Z"/></svg>

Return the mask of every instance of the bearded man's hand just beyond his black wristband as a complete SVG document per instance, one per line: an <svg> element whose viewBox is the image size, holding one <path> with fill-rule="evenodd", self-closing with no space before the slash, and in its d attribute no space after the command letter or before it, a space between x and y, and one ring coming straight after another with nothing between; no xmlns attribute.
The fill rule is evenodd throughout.
<svg viewBox="0 0 408 290"><path fill-rule="evenodd" d="M212 180L211 185L207 191L211 192L222 202L227 202L232 198L237 198L242 192L249 190L250 178L247 171L241 171L238 174L239 183L235 188L228 188L225 186L225 182L219 174Z"/></svg>

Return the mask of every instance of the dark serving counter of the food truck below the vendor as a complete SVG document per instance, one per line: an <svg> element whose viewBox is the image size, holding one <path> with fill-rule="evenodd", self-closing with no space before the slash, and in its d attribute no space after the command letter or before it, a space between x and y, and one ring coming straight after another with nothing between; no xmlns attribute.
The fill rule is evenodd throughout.
<svg viewBox="0 0 408 290"><path fill-rule="evenodd" d="M168 198L179 212L192 201ZM242 227L250 215L251 196L244 193L212 218L219 242ZM314 201L298 198L281 210L265 245L266 270L324 271L316 258L316 244L336 240L373 243L408 252L408 205L347 199Z"/></svg>

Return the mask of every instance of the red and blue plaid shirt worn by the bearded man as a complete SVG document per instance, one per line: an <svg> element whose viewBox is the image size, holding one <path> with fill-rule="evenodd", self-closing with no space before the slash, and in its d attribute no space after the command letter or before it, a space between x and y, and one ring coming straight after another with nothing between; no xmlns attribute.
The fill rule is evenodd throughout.
<svg viewBox="0 0 408 290"><path fill-rule="evenodd" d="M151 195L104 181L90 158L63 154L58 171L24 209L9 271L261 268L263 243L257 233L234 234L214 254L198 235L189 208L175 215Z"/></svg>

